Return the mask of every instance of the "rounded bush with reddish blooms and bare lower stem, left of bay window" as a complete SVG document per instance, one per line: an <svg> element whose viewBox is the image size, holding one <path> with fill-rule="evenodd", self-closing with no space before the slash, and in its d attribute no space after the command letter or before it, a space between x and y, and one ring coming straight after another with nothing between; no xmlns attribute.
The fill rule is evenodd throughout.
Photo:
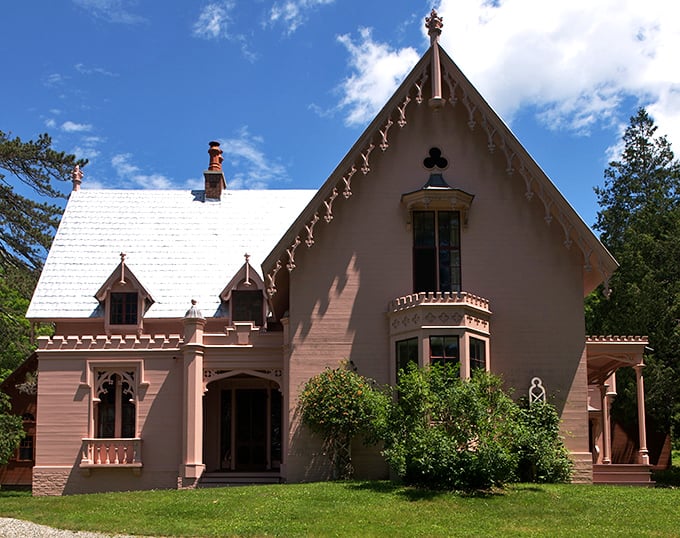
<svg viewBox="0 0 680 538"><path fill-rule="evenodd" d="M375 424L386 406L387 397L373 380L348 369L346 363L307 381L300 395L302 422L323 437L334 478L352 476L351 440L360 433L375 440Z"/></svg>

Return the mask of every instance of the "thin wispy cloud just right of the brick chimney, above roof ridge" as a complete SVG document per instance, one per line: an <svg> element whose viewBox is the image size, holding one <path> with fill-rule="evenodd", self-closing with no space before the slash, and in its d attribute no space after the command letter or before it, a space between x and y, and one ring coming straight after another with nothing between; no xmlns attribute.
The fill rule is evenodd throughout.
<svg viewBox="0 0 680 538"><path fill-rule="evenodd" d="M272 182L289 181L285 166L269 159L261 147L264 140L253 136L248 127L242 127L237 137L220 141L227 186L230 189L265 189ZM230 176L232 170L236 170Z"/></svg>

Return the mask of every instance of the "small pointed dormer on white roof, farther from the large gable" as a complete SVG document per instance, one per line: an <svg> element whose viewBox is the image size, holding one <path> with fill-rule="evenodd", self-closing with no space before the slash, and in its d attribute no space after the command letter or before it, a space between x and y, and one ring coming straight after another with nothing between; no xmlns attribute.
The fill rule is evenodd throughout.
<svg viewBox="0 0 680 538"><path fill-rule="evenodd" d="M126 265L125 253L109 278L95 293L104 308L104 330L111 334L139 334L144 312L154 303L151 294Z"/></svg>

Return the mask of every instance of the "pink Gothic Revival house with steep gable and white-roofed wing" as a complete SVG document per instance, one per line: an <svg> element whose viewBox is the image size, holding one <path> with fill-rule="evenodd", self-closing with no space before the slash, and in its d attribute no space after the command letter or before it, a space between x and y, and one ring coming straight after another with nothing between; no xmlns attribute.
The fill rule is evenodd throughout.
<svg viewBox="0 0 680 538"><path fill-rule="evenodd" d="M34 494L326 479L296 403L343 360L380 383L447 360L545 391L575 480L649 481L646 341L584 332L583 298L616 261L427 25L432 46L318 191L229 190L216 142L200 191L81 190L74 171L28 311L55 325ZM624 467L621 366L642 417ZM388 475L375 448L353 463Z"/></svg>

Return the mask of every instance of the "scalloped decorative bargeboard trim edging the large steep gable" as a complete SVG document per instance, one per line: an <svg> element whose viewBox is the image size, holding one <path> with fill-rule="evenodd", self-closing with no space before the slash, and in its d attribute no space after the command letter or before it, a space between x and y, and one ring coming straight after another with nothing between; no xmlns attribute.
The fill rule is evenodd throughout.
<svg viewBox="0 0 680 538"><path fill-rule="evenodd" d="M543 222L536 222L536 226L559 227L564 248L581 258L584 296L602 282L608 285L612 272L617 268L616 260L434 40L265 259L263 272L270 296L277 293L280 283L285 286L287 282L281 271L292 272L295 269L296 250L302 245L312 248L315 228L331 224L334 205L351 200L352 184L370 181L372 157L378 152L389 154L390 137L394 131L407 130L416 115L437 114L442 107L462 107L470 136L475 137L476 143L486 145L490 158L502 156L508 181L521 183L527 205L540 204ZM396 158L396 154L392 158Z"/></svg>

